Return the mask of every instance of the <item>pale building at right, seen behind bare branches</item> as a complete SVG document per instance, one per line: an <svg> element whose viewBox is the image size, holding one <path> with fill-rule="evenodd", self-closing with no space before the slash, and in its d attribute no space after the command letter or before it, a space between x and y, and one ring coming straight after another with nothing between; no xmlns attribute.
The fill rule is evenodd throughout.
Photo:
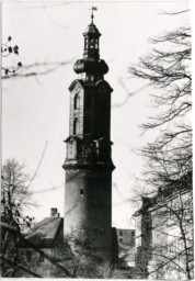
<svg viewBox="0 0 195 281"><path fill-rule="evenodd" d="M192 173L142 198L136 218L136 270L149 279L194 276Z"/></svg>

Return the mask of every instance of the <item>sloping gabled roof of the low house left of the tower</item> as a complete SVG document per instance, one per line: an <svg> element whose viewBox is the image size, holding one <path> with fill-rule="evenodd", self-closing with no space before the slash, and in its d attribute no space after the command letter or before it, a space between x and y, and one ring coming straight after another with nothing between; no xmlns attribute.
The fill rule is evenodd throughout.
<svg viewBox="0 0 195 281"><path fill-rule="evenodd" d="M62 227L62 221L61 217L46 217L31 229L25 239L36 247L49 248Z"/></svg>

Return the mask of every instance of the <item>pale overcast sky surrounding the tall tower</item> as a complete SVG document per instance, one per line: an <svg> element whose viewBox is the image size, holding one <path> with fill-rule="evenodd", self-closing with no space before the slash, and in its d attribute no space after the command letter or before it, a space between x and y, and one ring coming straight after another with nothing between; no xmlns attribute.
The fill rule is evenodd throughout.
<svg viewBox="0 0 195 281"><path fill-rule="evenodd" d="M66 157L62 142L69 131L68 87L77 78L72 66L82 57L83 36L90 23L91 3L97 7L94 23L102 33L100 54L110 72L104 77L112 93L113 224L129 227L134 212L128 202L135 177L142 170L142 159L131 148L139 148L154 134L141 135L140 125L152 114L146 81L133 79L128 67L146 56L150 37L188 23L188 13L164 15L188 9L188 1L110 1L110 2L3 2L2 42L9 35L19 45L20 56L3 64L67 61L45 76L7 79L2 83L2 158L26 164L38 207L30 211L36 221L58 207L64 215ZM145 87L146 86L146 87ZM139 90L142 89L142 90ZM139 90L139 91L138 91ZM124 103L128 93L133 93ZM119 105L119 106L118 106ZM160 109L159 109L160 110ZM44 157L39 162L42 155Z"/></svg>

